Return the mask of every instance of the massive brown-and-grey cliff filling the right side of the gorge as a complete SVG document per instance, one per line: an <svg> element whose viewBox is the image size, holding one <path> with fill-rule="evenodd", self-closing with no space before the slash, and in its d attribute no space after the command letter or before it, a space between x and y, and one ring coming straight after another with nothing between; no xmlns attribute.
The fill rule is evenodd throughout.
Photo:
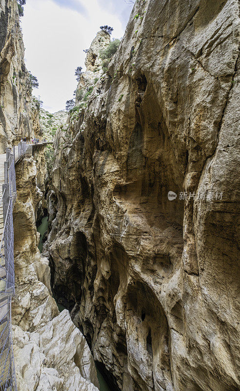
<svg viewBox="0 0 240 391"><path fill-rule="evenodd" d="M57 133L53 291L116 390L240 388L239 7L137 1Z"/></svg>

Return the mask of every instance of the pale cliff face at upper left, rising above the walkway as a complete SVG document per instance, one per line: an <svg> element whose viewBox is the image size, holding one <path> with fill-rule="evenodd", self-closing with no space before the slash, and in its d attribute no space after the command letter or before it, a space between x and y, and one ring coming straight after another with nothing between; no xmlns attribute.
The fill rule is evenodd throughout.
<svg viewBox="0 0 240 391"><path fill-rule="evenodd" d="M40 135L16 0L0 0L0 153L21 137Z"/></svg>

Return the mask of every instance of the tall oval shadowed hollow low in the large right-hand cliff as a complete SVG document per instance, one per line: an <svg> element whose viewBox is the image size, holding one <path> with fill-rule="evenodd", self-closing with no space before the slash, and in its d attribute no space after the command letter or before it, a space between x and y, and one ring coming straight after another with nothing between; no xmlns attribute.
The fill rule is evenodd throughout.
<svg viewBox="0 0 240 391"><path fill-rule="evenodd" d="M126 309L128 351L135 381L143 390L146 386L165 390L166 384L172 382L172 373L170 331L164 310L155 293L140 281L128 286Z"/></svg>

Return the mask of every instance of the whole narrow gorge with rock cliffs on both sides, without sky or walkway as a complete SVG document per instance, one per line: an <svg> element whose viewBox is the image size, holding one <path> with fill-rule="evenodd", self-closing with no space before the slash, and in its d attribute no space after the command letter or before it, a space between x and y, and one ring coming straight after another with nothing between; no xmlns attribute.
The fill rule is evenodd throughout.
<svg viewBox="0 0 240 391"><path fill-rule="evenodd" d="M53 139L15 166L18 391L240 390L240 1L136 0L55 114L0 10L1 153Z"/></svg>

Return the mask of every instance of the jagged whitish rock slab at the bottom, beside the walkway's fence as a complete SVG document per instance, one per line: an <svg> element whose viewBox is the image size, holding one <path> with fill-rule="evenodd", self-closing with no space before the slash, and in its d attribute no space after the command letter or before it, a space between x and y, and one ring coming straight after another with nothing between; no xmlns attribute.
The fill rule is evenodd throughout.
<svg viewBox="0 0 240 391"><path fill-rule="evenodd" d="M13 334L18 390L98 390L93 357L67 310L36 332L13 326Z"/></svg>

